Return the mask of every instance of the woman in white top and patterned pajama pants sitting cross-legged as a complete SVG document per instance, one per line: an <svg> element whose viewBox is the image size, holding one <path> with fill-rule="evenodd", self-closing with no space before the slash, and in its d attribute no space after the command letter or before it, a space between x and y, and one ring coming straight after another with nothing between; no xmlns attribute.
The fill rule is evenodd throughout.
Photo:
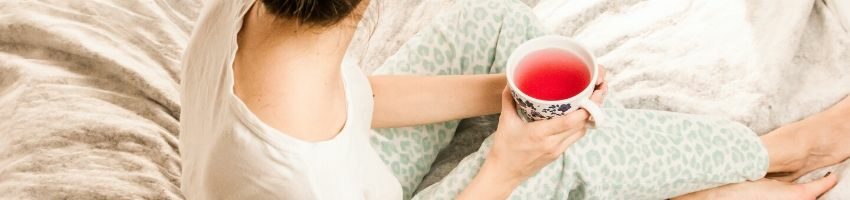
<svg viewBox="0 0 850 200"><path fill-rule="evenodd" d="M760 138L726 120L645 110L608 109L613 127L590 133L581 110L523 122L498 73L514 47L545 32L515 0L457 2L367 78L344 57L367 4L205 7L183 66L188 199L410 198L457 119L500 111L481 150L413 198L813 198L836 178L746 181L792 180L850 155L840 145L850 128L834 119L850 116L848 99ZM601 103L605 82L597 88ZM387 127L397 128L369 134ZM738 184L709 189L729 183Z"/></svg>

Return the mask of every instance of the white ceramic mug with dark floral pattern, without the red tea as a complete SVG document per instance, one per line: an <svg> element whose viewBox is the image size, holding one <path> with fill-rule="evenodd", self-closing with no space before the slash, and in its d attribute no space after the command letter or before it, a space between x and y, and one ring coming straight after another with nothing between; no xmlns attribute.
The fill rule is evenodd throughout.
<svg viewBox="0 0 850 200"><path fill-rule="evenodd" d="M544 49L559 49L571 53L580 58L590 73L590 82L577 95L561 100L541 100L523 93L515 82L516 71L522 61L530 53ZM593 54L581 46L578 42L563 36L543 36L534 38L521 44L514 50L507 62L507 79L511 94L516 101L517 112L526 121L547 120L566 115L572 111L583 108L593 117L596 126L600 126L605 119L602 110L596 103L590 100L590 95L596 87L599 74L598 65Z"/></svg>

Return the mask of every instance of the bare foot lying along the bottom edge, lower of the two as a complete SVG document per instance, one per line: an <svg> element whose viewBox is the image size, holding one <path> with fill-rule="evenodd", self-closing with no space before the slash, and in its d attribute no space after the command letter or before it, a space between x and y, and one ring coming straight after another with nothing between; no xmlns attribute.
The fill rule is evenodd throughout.
<svg viewBox="0 0 850 200"><path fill-rule="evenodd" d="M804 184L762 179L754 182L729 184L717 188L690 193L673 198L674 200L704 199L770 199L800 200L815 199L831 189L838 182L836 175Z"/></svg>

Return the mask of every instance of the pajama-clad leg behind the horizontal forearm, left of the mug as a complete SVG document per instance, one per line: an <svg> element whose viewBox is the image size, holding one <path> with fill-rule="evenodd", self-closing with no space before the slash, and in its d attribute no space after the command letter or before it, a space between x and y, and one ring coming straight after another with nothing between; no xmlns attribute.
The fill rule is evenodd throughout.
<svg viewBox="0 0 850 200"><path fill-rule="evenodd" d="M531 11L519 1L458 1L373 74L501 73L516 46L545 33L532 15L501 14L512 12ZM439 151L449 144L457 125L458 121L450 121L375 130L378 134L372 137L372 145L398 178L405 199L428 173Z"/></svg>

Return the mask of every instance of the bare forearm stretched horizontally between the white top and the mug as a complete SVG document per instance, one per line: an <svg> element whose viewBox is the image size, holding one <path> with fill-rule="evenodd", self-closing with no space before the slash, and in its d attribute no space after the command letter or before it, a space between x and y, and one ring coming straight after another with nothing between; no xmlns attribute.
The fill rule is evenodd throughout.
<svg viewBox="0 0 850 200"><path fill-rule="evenodd" d="M429 124L496 114L504 74L371 76L373 128Z"/></svg>

